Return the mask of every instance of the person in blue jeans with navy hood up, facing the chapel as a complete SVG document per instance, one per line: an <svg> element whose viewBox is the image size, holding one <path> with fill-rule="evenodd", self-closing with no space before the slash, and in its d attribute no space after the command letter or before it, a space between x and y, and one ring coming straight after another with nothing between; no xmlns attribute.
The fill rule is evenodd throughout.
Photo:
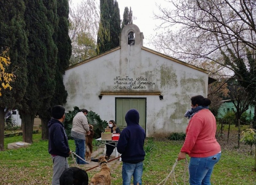
<svg viewBox="0 0 256 185"><path fill-rule="evenodd" d="M129 110L125 115L127 127L120 134L117 151L122 154L122 179L123 185L130 185L133 176L133 184L142 184L143 161L145 157L144 142L146 134L139 125L139 112L136 109Z"/></svg>

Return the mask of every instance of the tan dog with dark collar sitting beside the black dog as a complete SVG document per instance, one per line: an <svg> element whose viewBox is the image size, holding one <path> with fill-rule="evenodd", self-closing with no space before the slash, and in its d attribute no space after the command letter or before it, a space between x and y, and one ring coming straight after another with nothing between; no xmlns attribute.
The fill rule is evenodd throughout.
<svg viewBox="0 0 256 185"><path fill-rule="evenodd" d="M111 173L105 156L99 157L99 162L101 170L92 177L88 185L110 185L111 183Z"/></svg>

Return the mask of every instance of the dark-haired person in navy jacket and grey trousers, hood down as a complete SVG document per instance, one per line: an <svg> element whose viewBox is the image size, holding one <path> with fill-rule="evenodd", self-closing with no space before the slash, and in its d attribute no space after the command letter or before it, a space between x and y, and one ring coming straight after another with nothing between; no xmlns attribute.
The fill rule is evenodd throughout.
<svg viewBox="0 0 256 185"><path fill-rule="evenodd" d="M62 172L69 168L67 157L69 157L71 152L68 137L62 124L65 120L65 108L61 105L54 105L51 109L51 113L52 118L48 123L48 152L51 154L53 160L52 185L59 185Z"/></svg>

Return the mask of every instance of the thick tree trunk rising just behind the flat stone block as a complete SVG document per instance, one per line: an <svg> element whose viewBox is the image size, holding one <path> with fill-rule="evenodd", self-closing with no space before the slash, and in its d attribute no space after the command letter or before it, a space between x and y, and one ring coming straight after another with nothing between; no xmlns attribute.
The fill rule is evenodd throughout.
<svg viewBox="0 0 256 185"><path fill-rule="evenodd" d="M21 113L22 119L22 138L23 142L33 143L33 126L35 114Z"/></svg>

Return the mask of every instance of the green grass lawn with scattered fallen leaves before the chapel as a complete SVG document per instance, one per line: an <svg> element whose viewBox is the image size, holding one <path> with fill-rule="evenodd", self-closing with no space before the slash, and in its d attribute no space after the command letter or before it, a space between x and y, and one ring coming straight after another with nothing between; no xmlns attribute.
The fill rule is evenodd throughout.
<svg viewBox="0 0 256 185"><path fill-rule="evenodd" d="M244 129L244 128L243 128ZM233 135L236 132L231 133ZM236 136L234 136L236 138ZM48 154L48 141L41 141L41 134L33 134L33 144L27 148L8 150L7 144L22 141L22 136L4 138L5 151L0 152L0 184L23 185L23 184L51 184L52 161ZM243 184L256 185L256 174L252 172L254 156L250 156L249 146L240 144L240 148L234 147L237 141L229 140L225 143L225 137L219 143L222 147L222 156L219 163L214 167L212 184ZM71 150L75 149L73 140L69 142ZM170 141L166 138L147 138L145 147L153 145L147 153L144 161L143 184L156 185L160 183L172 169L175 159L178 157L183 141ZM96 147L95 147L96 148ZM254 150L254 149L253 149ZM187 157L189 160L189 158ZM69 158L69 164L73 160ZM183 183L185 161L179 161L175 168L176 181ZM96 173L88 171L89 179ZM188 174L186 174L188 178ZM111 169L111 183L122 184L121 164ZM175 184L173 178L169 178L166 184ZM188 181L186 184L189 184Z"/></svg>

